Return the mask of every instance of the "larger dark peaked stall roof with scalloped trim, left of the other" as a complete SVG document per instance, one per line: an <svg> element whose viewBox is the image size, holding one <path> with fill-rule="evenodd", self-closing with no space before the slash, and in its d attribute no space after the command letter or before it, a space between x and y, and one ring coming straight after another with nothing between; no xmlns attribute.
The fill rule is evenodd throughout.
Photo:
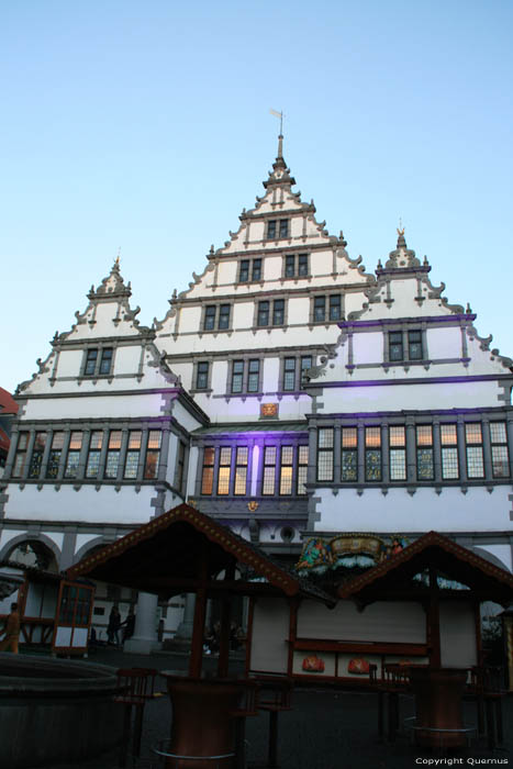
<svg viewBox="0 0 513 769"><path fill-rule="evenodd" d="M265 581L216 579L237 562ZM67 575L69 579L87 576L163 597L207 587L211 594L278 592L313 598L328 605L336 603L332 595L188 504L174 508L86 556Z"/></svg>

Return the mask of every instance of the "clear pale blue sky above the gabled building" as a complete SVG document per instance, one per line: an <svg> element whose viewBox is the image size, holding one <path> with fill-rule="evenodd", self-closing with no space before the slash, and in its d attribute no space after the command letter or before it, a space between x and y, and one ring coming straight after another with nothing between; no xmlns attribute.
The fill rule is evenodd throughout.
<svg viewBox="0 0 513 769"><path fill-rule="evenodd" d="M406 241L511 339L506 0L0 0L0 386L45 358L121 246L167 311L261 194L283 110L305 200L368 270Z"/></svg>

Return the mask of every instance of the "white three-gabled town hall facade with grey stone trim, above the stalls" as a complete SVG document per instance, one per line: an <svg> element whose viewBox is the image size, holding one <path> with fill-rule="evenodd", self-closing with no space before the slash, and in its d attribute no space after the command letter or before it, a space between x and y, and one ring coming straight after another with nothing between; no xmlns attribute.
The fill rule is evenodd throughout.
<svg viewBox="0 0 513 769"><path fill-rule="evenodd" d="M366 274L294 183L280 137L265 194L150 328L118 263L91 288L19 387L0 558L38 542L65 568L188 499L290 557L434 528L512 568L512 361L403 232Z"/></svg>

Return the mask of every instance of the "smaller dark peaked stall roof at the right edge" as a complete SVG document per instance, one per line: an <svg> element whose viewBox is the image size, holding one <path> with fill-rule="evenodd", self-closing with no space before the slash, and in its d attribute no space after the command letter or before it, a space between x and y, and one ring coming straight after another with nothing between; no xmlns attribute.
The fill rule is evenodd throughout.
<svg viewBox="0 0 513 769"><path fill-rule="evenodd" d="M508 605L513 599L513 575L457 545L438 532L428 532L388 560L338 588L341 598L370 603L378 598L414 597L415 575L434 569L437 575L468 586L472 598ZM464 595L465 593L461 593Z"/></svg>

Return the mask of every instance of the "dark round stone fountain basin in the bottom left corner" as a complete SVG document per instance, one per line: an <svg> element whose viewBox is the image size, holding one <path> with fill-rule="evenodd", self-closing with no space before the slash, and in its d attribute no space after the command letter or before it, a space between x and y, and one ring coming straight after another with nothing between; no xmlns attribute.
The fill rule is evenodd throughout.
<svg viewBox="0 0 513 769"><path fill-rule="evenodd" d="M79 762L120 744L115 669L0 653L0 769Z"/></svg>

